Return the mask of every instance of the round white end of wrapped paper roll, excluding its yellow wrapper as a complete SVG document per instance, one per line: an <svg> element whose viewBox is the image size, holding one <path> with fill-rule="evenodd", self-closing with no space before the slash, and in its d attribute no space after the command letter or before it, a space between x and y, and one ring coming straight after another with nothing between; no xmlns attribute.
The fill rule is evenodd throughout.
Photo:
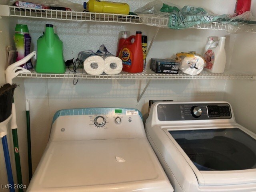
<svg viewBox="0 0 256 192"><path fill-rule="evenodd" d="M194 55L187 56L182 59L179 64L179 69L189 75L198 75L204 69L205 61L202 57Z"/></svg>

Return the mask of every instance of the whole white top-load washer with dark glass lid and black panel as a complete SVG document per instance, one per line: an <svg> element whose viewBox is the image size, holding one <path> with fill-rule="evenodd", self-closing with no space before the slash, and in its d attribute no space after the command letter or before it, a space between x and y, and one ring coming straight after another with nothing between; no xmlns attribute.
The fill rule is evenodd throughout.
<svg viewBox="0 0 256 192"><path fill-rule="evenodd" d="M229 103L154 103L145 129L174 192L256 192L256 134Z"/></svg>

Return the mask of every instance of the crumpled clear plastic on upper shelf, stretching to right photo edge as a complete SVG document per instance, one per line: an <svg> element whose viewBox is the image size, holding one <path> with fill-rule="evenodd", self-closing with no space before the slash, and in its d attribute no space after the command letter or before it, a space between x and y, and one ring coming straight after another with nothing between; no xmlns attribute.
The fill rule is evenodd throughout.
<svg viewBox="0 0 256 192"><path fill-rule="evenodd" d="M256 18L251 12L232 17L228 14L216 15L201 7L180 8L166 0L155 0L137 9L135 13L140 16L144 24L162 28L178 30L190 28L196 24L207 26L212 22L219 22L227 24L229 34L256 31Z"/></svg>

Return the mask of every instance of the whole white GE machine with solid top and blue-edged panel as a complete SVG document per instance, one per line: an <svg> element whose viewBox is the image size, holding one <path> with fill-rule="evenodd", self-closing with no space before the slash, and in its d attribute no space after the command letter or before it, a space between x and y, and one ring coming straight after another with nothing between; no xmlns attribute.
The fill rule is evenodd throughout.
<svg viewBox="0 0 256 192"><path fill-rule="evenodd" d="M136 109L58 111L27 192L173 192Z"/></svg>

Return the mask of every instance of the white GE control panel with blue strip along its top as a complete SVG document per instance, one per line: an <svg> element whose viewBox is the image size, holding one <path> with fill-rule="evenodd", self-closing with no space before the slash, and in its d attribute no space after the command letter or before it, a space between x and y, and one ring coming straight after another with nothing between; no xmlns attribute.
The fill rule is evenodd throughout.
<svg viewBox="0 0 256 192"><path fill-rule="evenodd" d="M144 138L142 114L131 108L64 109L54 116L51 140Z"/></svg>

